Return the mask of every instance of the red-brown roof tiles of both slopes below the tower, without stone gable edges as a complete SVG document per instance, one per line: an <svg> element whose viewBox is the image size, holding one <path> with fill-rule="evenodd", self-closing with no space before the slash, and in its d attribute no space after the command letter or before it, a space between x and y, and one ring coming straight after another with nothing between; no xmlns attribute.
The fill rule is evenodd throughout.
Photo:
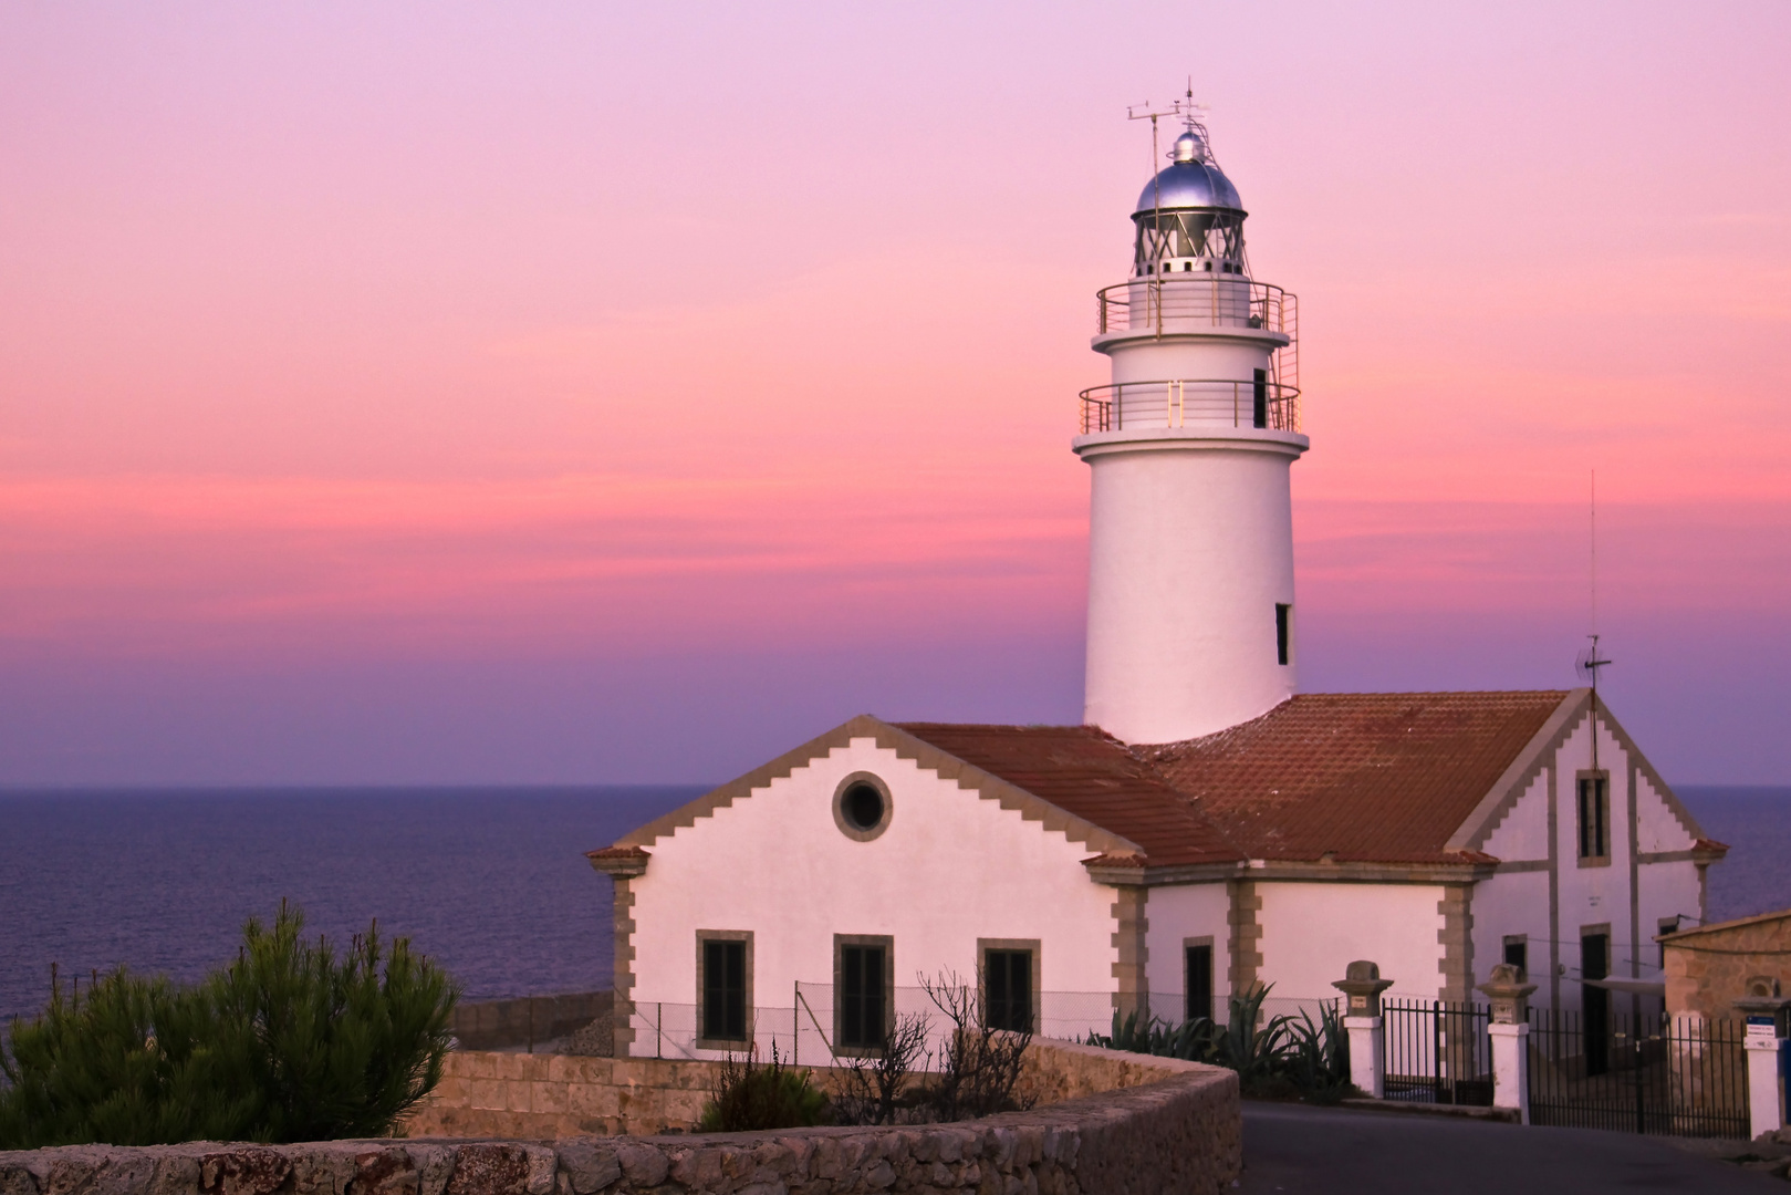
<svg viewBox="0 0 1791 1195"><path fill-rule="evenodd" d="M1130 838L1155 865L1490 862L1447 842L1565 692L1302 693L1207 738L1084 726L901 729Z"/></svg>

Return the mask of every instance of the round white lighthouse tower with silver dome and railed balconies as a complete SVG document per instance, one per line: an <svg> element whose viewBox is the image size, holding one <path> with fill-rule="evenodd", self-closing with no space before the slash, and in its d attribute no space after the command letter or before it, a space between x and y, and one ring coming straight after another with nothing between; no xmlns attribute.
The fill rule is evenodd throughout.
<svg viewBox="0 0 1791 1195"><path fill-rule="evenodd" d="M1112 383L1082 392L1093 469L1084 720L1196 738L1295 690L1295 299L1252 281L1243 202L1191 104L1132 215L1132 278L1098 296Z"/></svg>

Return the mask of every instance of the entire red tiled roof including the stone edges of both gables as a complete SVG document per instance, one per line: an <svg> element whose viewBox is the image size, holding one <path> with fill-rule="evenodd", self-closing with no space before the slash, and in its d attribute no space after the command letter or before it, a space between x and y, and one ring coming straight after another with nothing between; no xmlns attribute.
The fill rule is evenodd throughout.
<svg viewBox="0 0 1791 1195"><path fill-rule="evenodd" d="M1121 869L1284 864L1488 865L1483 844L1590 711L1585 690L1309 693L1218 735L1127 745L1093 726L890 724L861 715L593 851L600 871L854 738L1089 847ZM1633 752L1599 708L1607 729ZM1641 760L1675 817L1691 813ZM627 851L623 851L627 847Z"/></svg>

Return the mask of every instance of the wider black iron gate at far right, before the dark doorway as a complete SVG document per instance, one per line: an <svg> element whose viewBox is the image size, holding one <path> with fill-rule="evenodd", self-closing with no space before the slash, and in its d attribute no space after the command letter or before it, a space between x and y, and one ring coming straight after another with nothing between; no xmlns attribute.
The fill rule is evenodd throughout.
<svg viewBox="0 0 1791 1195"><path fill-rule="evenodd" d="M1743 1027L1728 1019L1531 1009L1530 1122L1744 1139L1741 1039Z"/></svg>

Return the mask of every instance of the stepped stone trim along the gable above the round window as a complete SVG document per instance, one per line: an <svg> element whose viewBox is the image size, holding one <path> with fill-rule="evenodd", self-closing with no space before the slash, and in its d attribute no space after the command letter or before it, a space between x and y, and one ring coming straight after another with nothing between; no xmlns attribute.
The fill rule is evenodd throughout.
<svg viewBox="0 0 1791 1195"><path fill-rule="evenodd" d="M935 747L924 738L917 738L899 726L892 726L869 713L861 713L849 722L842 722L826 735L802 744L795 751L786 751L770 763L731 779L720 788L706 792L690 804L682 804L664 817L647 822L639 830L629 831L616 840L614 847L609 849L648 847L659 838L666 838L679 830L695 826L698 819L711 817L716 810L725 808L734 801L750 797L754 790L768 787L774 779L790 776L797 769L826 758L836 747L845 747L854 738L870 738L878 744L878 747L894 751L897 758L912 760L922 770L933 772L940 779L956 781L958 788L967 788L983 801L994 801L1003 810L1017 812L1024 821L1041 822L1048 831L1060 831L1071 842L1080 842L1091 851L1100 851L1103 855L1143 855L1143 849L1135 842L1121 838L1109 830L1101 830L1094 822L1076 817L1075 813L1026 792L1019 785L1005 781L999 776L992 776L983 769Z"/></svg>

